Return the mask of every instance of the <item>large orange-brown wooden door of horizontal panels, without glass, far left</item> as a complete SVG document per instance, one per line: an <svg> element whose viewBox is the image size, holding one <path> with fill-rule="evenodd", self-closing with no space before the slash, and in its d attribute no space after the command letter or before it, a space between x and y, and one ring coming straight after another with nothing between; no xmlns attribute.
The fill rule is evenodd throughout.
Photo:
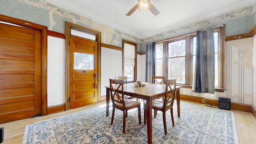
<svg viewBox="0 0 256 144"><path fill-rule="evenodd" d="M41 115L41 32L0 23L0 124Z"/></svg>

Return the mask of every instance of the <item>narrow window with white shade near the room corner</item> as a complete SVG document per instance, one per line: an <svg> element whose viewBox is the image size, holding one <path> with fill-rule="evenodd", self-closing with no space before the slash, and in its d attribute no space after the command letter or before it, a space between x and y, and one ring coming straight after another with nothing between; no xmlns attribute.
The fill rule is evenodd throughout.
<svg viewBox="0 0 256 144"><path fill-rule="evenodd" d="M123 40L123 76L127 82L137 80L137 44Z"/></svg>

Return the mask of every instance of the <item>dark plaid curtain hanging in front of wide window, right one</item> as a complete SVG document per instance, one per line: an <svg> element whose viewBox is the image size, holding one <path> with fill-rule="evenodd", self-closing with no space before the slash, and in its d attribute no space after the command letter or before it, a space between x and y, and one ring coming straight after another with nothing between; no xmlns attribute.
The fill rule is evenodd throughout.
<svg viewBox="0 0 256 144"><path fill-rule="evenodd" d="M214 94L214 30L196 32L196 61L193 92Z"/></svg>

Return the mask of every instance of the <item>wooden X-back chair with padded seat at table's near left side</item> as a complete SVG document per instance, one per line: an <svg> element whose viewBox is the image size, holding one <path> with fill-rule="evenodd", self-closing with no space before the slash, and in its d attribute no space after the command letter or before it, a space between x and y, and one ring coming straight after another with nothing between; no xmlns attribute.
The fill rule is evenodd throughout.
<svg viewBox="0 0 256 144"><path fill-rule="evenodd" d="M115 109L123 111L123 133L125 133L125 123L126 123L126 113L127 110L138 108L138 118L139 124L141 124L141 115L140 115L140 102L124 98L124 80L114 80L109 79L110 82L110 94L112 100L112 118L111 125L113 125ZM121 91L121 94L118 93Z"/></svg>

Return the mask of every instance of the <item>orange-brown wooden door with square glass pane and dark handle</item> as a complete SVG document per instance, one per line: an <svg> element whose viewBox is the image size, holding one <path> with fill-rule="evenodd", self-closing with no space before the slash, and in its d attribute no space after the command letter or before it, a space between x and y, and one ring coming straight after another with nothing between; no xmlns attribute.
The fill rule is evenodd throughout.
<svg viewBox="0 0 256 144"><path fill-rule="evenodd" d="M98 102L98 43L70 36L70 109Z"/></svg>

